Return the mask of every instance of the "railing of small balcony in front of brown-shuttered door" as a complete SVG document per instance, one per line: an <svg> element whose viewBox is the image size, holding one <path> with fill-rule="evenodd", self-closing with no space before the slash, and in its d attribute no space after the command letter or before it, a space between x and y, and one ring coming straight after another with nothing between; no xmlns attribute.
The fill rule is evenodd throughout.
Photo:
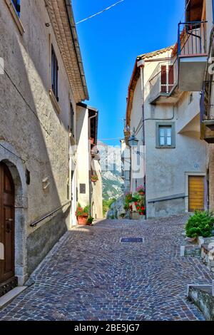
<svg viewBox="0 0 214 335"><path fill-rule="evenodd" d="M170 96L178 81L178 61L159 63L149 80L149 100L152 103L160 96Z"/></svg>

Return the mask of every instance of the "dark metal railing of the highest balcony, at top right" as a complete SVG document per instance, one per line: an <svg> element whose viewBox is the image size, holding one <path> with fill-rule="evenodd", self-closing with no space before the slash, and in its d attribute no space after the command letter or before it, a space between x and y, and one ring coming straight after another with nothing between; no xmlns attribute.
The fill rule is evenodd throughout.
<svg viewBox="0 0 214 335"><path fill-rule="evenodd" d="M200 56L207 53L207 21L178 24L178 56Z"/></svg>

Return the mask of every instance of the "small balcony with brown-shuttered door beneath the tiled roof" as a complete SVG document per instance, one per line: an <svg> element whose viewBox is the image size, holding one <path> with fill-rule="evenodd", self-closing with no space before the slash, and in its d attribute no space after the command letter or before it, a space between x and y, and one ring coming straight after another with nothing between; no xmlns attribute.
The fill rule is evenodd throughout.
<svg viewBox="0 0 214 335"><path fill-rule="evenodd" d="M148 101L151 104L177 103L180 98L178 91L178 60L162 62L156 67L148 81Z"/></svg>

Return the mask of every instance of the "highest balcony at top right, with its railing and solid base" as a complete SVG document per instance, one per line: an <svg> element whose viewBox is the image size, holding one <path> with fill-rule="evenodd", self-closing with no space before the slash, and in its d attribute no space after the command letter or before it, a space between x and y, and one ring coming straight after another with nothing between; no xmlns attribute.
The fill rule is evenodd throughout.
<svg viewBox="0 0 214 335"><path fill-rule="evenodd" d="M178 24L178 88L202 90L207 64L206 21Z"/></svg>

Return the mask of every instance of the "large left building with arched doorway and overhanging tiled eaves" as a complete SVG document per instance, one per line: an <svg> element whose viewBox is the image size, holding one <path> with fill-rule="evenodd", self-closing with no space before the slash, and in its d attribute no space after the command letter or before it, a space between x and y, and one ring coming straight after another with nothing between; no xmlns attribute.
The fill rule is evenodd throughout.
<svg viewBox="0 0 214 335"><path fill-rule="evenodd" d="M1 0L0 17L1 295L76 225L88 91L70 0Z"/></svg>

